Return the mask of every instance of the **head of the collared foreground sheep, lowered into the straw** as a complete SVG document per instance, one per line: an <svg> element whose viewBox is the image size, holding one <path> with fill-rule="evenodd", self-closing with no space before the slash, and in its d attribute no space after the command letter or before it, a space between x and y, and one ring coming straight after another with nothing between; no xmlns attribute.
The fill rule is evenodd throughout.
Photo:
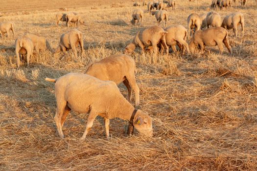
<svg viewBox="0 0 257 171"><path fill-rule="evenodd" d="M133 120L133 125L141 135L147 137L153 136L152 118L141 110L137 111L137 114Z"/></svg>

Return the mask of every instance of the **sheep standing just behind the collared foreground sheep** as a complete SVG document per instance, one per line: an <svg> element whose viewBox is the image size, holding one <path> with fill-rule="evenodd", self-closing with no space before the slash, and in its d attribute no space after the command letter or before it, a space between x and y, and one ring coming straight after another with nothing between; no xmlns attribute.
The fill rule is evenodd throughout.
<svg viewBox="0 0 257 171"><path fill-rule="evenodd" d="M135 104L139 106L140 89L136 82L135 73L137 73L135 61L125 54L113 55L90 64L85 72L85 74L103 81L113 81L117 85L123 82L128 89L127 100L131 102L131 92L134 89L136 97Z"/></svg>

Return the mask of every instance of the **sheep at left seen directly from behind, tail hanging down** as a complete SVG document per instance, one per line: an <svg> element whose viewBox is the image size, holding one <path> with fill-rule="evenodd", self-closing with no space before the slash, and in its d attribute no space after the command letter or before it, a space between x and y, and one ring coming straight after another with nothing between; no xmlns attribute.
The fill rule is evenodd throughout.
<svg viewBox="0 0 257 171"><path fill-rule="evenodd" d="M17 67L20 67L20 55L22 59L24 55L27 54L27 66L29 66L30 56L33 53L33 42L25 37L21 36L15 40L15 54L17 57Z"/></svg>

